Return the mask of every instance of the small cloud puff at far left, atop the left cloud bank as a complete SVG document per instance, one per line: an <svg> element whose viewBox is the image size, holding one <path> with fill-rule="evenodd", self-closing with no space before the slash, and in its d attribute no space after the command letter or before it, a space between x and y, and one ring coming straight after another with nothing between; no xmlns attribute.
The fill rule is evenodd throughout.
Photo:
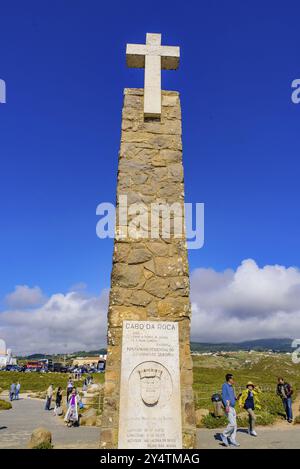
<svg viewBox="0 0 300 469"><path fill-rule="evenodd" d="M40 305L44 301L45 297L39 287L30 288L27 285L17 285L14 291L5 297L9 308L27 308Z"/></svg>

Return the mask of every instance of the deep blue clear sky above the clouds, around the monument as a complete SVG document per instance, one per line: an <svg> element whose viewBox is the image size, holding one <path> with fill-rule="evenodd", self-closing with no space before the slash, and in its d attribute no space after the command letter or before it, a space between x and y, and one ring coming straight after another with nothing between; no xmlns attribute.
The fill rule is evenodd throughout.
<svg viewBox="0 0 300 469"><path fill-rule="evenodd" d="M115 200L122 91L142 87L126 42L181 47L163 72L183 109L186 200L206 204L190 267L300 266L299 2L1 2L0 297L109 287L112 242L96 206Z"/></svg>

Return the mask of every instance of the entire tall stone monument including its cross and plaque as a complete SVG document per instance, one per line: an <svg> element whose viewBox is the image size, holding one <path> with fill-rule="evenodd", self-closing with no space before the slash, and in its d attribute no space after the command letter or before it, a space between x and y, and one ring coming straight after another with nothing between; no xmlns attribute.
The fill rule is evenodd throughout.
<svg viewBox="0 0 300 469"><path fill-rule="evenodd" d="M101 447L194 448L180 98L161 91L179 48L147 34L127 64L145 87L124 91Z"/></svg>

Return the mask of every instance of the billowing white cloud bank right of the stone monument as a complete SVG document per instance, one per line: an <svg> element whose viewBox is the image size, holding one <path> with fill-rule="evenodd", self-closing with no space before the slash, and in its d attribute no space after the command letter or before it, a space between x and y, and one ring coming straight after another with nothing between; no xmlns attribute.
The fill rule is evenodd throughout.
<svg viewBox="0 0 300 469"><path fill-rule="evenodd" d="M300 270L247 259L191 276L192 337L203 342L300 337Z"/></svg>

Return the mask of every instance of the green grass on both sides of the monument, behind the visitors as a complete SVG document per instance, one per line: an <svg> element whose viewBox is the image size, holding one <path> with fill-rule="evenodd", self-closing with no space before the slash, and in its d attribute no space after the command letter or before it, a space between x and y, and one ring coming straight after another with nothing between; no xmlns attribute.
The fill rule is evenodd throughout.
<svg viewBox="0 0 300 469"><path fill-rule="evenodd" d="M260 396L262 409L256 411L258 425L271 425L277 419L284 418L281 399L276 396L277 377L284 376L295 390L300 392L300 364L294 364L290 355L267 354L263 352L227 352L224 355L200 355L193 357L194 362L194 392L196 409L208 409L210 414L203 417L201 426L217 428L227 423L226 417L216 419L213 414L211 395L220 392L226 373L233 373L236 381L236 391L245 388L251 380L262 389ZM15 373L0 372L0 388L8 390L12 382L19 380L21 392L44 393L52 383L54 388L66 388L68 373ZM93 375L94 383L104 382L104 373ZM82 380L77 381L78 387ZM8 403L9 404L9 403ZM0 401L1 409L1 401ZM238 424L247 426L247 416L243 409L237 407ZM300 417L296 418L300 423Z"/></svg>

